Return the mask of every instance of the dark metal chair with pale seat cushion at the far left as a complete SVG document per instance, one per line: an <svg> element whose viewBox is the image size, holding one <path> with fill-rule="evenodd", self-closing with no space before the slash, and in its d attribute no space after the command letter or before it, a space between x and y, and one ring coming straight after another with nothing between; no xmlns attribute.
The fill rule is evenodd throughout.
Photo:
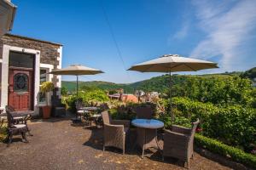
<svg viewBox="0 0 256 170"><path fill-rule="evenodd" d="M8 120L8 137L7 139L9 140L9 144L12 142L13 139L13 135L15 134L21 134L22 135L22 139L25 140L25 142L27 143L27 139L26 139L26 132L28 132L28 128L26 126L26 124L15 124L15 119L12 116L11 112L9 112L8 110L6 110L6 114L7 114L7 120Z"/></svg>

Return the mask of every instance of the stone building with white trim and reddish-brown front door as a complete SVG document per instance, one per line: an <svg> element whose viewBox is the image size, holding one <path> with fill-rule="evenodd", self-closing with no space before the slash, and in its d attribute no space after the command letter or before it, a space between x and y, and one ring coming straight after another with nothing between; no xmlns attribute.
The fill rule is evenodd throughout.
<svg viewBox="0 0 256 170"><path fill-rule="evenodd" d="M11 105L16 111L38 111L44 104L40 84L54 82L61 87L61 77L47 74L61 68L60 43L5 34L0 38L0 104Z"/></svg>

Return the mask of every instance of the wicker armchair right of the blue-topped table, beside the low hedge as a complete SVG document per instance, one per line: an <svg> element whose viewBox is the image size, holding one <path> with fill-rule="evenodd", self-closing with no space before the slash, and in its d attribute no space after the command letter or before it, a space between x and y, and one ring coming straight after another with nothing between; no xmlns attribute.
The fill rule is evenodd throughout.
<svg viewBox="0 0 256 170"><path fill-rule="evenodd" d="M199 124L199 119L193 122L192 128L172 126L172 131L165 130L164 134L164 156L172 156L179 160L185 161L189 167L189 160L194 156L194 135L195 129Z"/></svg>

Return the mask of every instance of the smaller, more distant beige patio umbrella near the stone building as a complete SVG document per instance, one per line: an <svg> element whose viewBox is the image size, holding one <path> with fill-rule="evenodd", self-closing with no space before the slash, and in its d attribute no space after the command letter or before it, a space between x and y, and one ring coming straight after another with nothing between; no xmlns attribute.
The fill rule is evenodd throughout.
<svg viewBox="0 0 256 170"><path fill-rule="evenodd" d="M54 75L71 75L77 77L77 96L79 96L79 76L81 75L96 75L98 73L103 73L103 71L96 70L84 65L70 65L67 68L57 69L49 72L49 74Z"/></svg>

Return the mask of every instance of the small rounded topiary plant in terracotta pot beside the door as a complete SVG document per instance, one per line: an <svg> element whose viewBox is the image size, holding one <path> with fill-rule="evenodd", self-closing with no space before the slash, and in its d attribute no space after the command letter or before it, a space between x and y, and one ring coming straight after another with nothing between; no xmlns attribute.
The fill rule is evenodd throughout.
<svg viewBox="0 0 256 170"><path fill-rule="evenodd" d="M50 116L51 106L49 105L49 92L55 88L53 82L43 82L40 91L45 94L46 97L46 105L42 107L43 110L43 118L48 119Z"/></svg>

